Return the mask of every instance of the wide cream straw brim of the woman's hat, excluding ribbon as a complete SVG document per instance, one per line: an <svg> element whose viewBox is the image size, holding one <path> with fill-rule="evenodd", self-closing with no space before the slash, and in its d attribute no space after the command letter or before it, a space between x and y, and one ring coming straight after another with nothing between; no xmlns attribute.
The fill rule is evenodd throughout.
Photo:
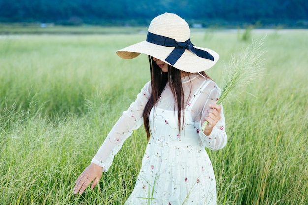
<svg viewBox="0 0 308 205"><path fill-rule="evenodd" d="M197 73L205 71L216 64L219 59L218 53L208 48L201 48L197 46L194 47L210 53L214 57L214 61L198 57L196 54L186 49L182 56L173 65L173 67L185 72ZM175 47L160 46L149 43L147 41L142 41L118 50L116 53L122 59L133 59L139 54L143 53L155 57L156 59L160 59L161 61L170 65L170 63L168 63L165 59L169 56L174 48Z"/></svg>

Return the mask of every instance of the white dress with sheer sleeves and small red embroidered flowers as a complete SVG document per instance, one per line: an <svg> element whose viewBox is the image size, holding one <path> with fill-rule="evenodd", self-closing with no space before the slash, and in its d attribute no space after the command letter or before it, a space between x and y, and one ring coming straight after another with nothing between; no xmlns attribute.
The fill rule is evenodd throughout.
<svg viewBox="0 0 308 205"><path fill-rule="evenodd" d="M183 77L182 85L185 121L181 131L167 83L159 102L150 112L151 137L135 188L125 205L216 205L215 175L205 148L217 150L226 145L223 109L221 119L209 136L200 131L200 119L209 104L217 101L220 89L212 80L199 74ZM92 159L105 172L124 140L143 124L142 112L150 94L148 82Z"/></svg>

